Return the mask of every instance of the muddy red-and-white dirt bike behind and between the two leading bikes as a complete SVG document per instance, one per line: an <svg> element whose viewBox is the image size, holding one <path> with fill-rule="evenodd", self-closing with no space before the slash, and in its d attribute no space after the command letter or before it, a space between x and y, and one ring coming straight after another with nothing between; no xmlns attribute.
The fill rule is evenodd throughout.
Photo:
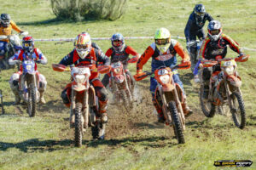
<svg viewBox="0 0 256 170"><path fill-rule="evenodd" d="M136 63L137 59L129 59L128 63ZM132 108L131 77L125 73L124 65L121 61L111 64L109 77L109 88L114 96L114 103L124 105L126 111ZM121 102L120 102L121 101Z"/></svg>

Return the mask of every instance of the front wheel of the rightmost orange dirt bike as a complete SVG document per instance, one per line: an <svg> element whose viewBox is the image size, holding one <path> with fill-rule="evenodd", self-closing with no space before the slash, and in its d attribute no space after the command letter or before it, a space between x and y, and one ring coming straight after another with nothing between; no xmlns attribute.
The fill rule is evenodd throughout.
<svg viewBox="0 0 256 170"><path fill-rule="evenodd" d="M236 127L242 129L246 124L246 112L241 94L238 92L233 92L231 94L231 101L233 108L231 108L230 111L232 113L233 121L235 122Z"/></svg>

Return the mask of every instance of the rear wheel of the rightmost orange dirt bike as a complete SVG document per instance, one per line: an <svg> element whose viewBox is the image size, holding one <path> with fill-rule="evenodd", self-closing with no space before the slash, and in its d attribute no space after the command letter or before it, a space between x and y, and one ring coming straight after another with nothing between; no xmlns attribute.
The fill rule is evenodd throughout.
<svg viewBox="0 0 256 170"><path fill-rule="evenodd" d="M209 102L207 99L204 99L203 94L204 94L204 86L201 85L200 91L199 91L201 111L204 113L205 116L213 117L215 115L216 105L213 105L212 102Z"/></svg>

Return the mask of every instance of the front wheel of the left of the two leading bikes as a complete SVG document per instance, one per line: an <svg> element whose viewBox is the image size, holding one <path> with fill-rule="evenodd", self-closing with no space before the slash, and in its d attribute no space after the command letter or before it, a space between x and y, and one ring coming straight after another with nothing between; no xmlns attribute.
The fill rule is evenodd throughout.
<svg viewBox="0 0 256 170"><path fill-rule="evenodd" d="M74 143L76 147L82 146L83 139L83 124L82 124L82 104L76 103L75 107L75 139Z"/></svg>

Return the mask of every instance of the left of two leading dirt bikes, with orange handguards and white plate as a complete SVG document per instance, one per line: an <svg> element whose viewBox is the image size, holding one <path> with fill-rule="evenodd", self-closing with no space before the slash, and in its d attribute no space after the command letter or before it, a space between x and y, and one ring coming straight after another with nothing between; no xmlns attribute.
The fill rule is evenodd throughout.
<svg viewBox="0 0 256 170"><path fill-rule="evenodd" d="M95 88L90 85L90 65L79 67L67 67L61 64L52 65L54 71L71 71L72 93L70 110L75 116L74 144L82 146L84 132L91 127L92 136L104 138L106 123L102 123L97 116L99 111L98 99ZM96 69L101 74L108 73L110 67L102 65Z"/></svg>

